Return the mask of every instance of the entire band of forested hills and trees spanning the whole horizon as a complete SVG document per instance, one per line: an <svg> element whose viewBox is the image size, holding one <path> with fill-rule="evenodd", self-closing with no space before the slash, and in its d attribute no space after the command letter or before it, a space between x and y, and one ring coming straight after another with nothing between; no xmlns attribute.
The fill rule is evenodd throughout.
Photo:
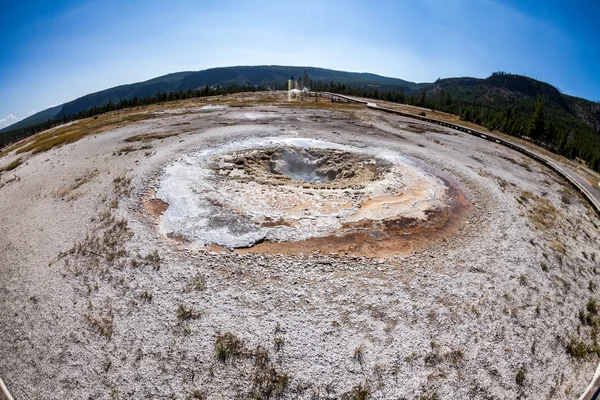
<svg viewBox="0 0 600 400"><path fill-rule="evenodd" d="M491 130L528 137L600 171L600 103L563 94L545 82L503 72L485 79L448 78L418 84L313 67L243 66L178 72L92 93L34 114L0 130L0 147L58 123L106 111L194 96L284 89L290 78L313 90L456 114Z"/></svg>

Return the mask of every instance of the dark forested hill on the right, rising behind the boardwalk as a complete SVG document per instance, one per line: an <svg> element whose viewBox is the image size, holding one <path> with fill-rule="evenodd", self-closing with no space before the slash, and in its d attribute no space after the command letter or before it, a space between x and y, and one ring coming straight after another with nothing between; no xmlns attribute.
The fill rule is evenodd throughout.
<svg viewBox="0 0 600 400"><path fill-rule="evenodd" d="M562 94L545 82L496 72L485 79L438 79L409 91L323 88L455 114L490 130L528 137L600 172L600 103Z"/></svg>

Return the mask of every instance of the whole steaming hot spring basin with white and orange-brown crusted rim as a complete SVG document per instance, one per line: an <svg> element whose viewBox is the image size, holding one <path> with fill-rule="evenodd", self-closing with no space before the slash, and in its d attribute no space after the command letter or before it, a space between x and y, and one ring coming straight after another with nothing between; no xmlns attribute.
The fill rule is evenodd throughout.
<svg viewBox="0 0 600 400"><path fill-rule="evenodd" d="M156 198L168 238L284 254L413 251L469 209L456 183L400 153L301 138L187 155L167 167Z"/></svg>

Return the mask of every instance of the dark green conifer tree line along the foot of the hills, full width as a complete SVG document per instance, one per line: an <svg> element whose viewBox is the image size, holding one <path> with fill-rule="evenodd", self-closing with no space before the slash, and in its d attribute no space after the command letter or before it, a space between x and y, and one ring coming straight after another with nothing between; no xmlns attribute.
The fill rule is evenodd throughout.
<svg viewBox="0 0 600 400"><path fill-rule="evenodd" d="M492 101L486 96L486 88L470 84L467 80L452 80L443 87L441 80L433 85L420 88L408 88L385 85L346 84L312 80L306 71L297 82L299 87L313 91L328 91L349 96L366 97L400 104L439 110L460 116L464 121L499 130L503 133L528 138L547 149L570 159L579 158L592 169L600 172L600 126L585 124L565 108L565 100L552 86L533 80L511 79L514 76L494 73L486 79L490 84L508 88L517 92L539 93L537 97L495 96ZM294 80L294 76L292 76ZM471 86L469 86L471 85ZM534 87L532 87L532 85ZM179 92L161 92L149 97L133 97L112 102L103 106L94 106L75 114L62 115L46 122L0 133L0 148L21 140L37 132L78 119L130 107L183 100L198 97L226 95L240 92L286 89L287 82L271 85L227 85ZM557 94L558 93L558 94Z"/></svg>

